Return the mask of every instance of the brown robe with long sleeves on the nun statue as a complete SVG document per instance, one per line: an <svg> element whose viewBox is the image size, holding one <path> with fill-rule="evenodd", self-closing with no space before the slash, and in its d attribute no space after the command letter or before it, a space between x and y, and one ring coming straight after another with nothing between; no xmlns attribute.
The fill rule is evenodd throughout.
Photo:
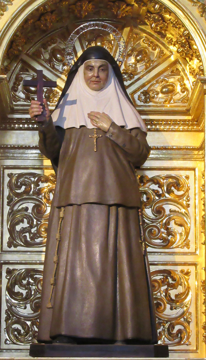
<svg viewBox="0 0 206 360"><path fill-rule="evenodd" d="M140 129L112 123L97 139L85 126L65 131L41 127L40 150L58 158L42 285L38 341L60 334L105 340L156 342L147 255L139 233L139 190L134 166L149 147ZM47 309L60 207L65 207L52 308Z"/></svg>

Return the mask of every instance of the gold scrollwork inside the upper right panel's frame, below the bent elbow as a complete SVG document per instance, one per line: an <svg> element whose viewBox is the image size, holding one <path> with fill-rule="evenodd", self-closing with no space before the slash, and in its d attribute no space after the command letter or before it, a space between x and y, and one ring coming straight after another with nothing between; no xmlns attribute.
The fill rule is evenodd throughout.
<svg viewBox="0 0 206 360"><path fill-rule="evenodd" d="M189 249L189 176L141 175L138 179L147 245Z"/></svg>

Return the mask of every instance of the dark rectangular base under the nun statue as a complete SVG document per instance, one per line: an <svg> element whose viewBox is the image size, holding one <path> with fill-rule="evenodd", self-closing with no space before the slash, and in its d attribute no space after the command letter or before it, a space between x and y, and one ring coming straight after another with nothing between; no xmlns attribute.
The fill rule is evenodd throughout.
<svg viewBox="0 0 206 360"><path fill-rule="evenodd" d="M31 344L33 357L169 357L168 345Z"/></svg>

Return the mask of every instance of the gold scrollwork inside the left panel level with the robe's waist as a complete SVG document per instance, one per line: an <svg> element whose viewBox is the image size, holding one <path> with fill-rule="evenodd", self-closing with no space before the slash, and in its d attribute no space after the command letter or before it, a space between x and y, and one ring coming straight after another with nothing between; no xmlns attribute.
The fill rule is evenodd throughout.
<svg viewBox="0 0 206 360"><path fill-rule="evenodd" d="M7 226L10 236L7 246L45 246L55 175L24 172L8 176Z"/></svg>

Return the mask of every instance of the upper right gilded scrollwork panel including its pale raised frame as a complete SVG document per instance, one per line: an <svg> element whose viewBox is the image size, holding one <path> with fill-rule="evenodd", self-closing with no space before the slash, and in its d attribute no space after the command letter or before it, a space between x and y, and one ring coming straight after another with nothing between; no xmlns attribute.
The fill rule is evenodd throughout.
<svg viewBox="0 0 206 360"><path fill-rule="evenodd" d="M185 175L179 168L165 170L137 171L149 251L196 253L197 169L185 168Z"/></svg>

